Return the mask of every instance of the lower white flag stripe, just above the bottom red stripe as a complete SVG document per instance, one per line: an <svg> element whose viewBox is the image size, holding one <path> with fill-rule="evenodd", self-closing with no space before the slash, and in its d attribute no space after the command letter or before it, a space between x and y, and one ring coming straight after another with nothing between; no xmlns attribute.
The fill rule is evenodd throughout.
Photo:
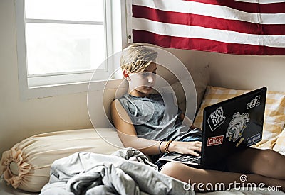
<svg viewBox="0 0 285 195"><path fill-rule="evenodd" d="M265 45L276 48L284 48L285 45L285 36L282 35L252 35L199 26L161 23L142 18L133 18L133 29L146 30L159 35L170 35L185 38L203 38L224 43Z"/></svg>

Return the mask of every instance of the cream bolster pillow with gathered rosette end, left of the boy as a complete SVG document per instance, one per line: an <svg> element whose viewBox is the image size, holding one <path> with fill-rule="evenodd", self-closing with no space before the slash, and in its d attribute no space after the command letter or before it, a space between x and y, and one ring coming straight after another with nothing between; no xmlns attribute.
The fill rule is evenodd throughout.
<svg viewBox="0 0 285 195"><path fill-rule="evenodd" d="M119 139L115 130L103 129L107 140ZM122 145L123 147L123 145ZM15 189L41 191L48 182L51 164L54 160L75 152L96 152L111 154L118 150L107 143L94 129L65 130L43 133L16 143L11 150L3 152L0 174L4 173L7 184Z"/></svg>

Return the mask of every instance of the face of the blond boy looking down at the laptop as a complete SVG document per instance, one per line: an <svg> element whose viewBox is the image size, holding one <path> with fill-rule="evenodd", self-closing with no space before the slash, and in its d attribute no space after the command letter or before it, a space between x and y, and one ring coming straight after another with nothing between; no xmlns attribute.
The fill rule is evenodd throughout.
<svg viewBox="0 0 285 195"><path fill-rule="evenodd" d="M152 62L144 72L129 73L129 91L133 96L147 96L153 91L157 65Z"/></svg>

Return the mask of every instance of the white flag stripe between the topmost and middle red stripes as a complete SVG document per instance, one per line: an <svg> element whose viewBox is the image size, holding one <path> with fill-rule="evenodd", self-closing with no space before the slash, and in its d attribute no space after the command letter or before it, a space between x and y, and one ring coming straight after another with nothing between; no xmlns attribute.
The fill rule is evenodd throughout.
<svg viewBox="0 0 285 195"><path fill-rule="evenodd" d="M167 4L166 4L167 3ZM211 16L227 20L247 21L261 24L285 24L285 13L247 13L226 6L202 4L193 1L177 0L133 0L133 5L146 6L162 11L192 13L202 16Z"/></svg>

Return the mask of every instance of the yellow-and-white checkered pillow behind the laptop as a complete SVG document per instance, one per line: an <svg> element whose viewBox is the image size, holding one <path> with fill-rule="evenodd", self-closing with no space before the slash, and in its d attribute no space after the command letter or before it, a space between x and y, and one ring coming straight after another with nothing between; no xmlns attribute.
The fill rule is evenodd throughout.
<svg viewBox="0 0 285 195"><path fill-rule="evenodd" d="M234 96L247 93L249 90L226 89L222 87L208 86L204 94L204 99L197 112L194 125L202 128L202 118L204 107L216 104L219 101L230 99ZM276 140L285 125L285 92L267 91L264 132L262 140L257 143L257 147L273 149Z"/></svg>

